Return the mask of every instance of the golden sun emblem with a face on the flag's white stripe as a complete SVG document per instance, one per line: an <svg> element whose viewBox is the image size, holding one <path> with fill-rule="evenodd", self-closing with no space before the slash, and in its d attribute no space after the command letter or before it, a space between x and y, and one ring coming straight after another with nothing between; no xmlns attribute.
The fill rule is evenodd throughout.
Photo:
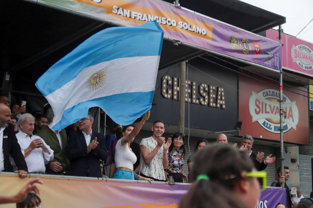
<svg viewBox="0 0 313 208"><path fill-rule="evenodd" d="M85 84L90 91L100 90L106 81L106 75L108 71L105 69L100 69L94 73L92 73Z"/></svg>

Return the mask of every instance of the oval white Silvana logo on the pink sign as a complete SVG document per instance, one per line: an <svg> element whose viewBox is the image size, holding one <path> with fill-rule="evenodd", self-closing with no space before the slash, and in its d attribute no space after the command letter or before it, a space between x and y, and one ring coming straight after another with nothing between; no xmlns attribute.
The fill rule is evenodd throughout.
<svg viewBox="0 0 313 208"><path fill-rule="evenodd" d="M292 45L292 61L296 62L301 69L311 71L313 69L312 49L304 44Z"/></svg>

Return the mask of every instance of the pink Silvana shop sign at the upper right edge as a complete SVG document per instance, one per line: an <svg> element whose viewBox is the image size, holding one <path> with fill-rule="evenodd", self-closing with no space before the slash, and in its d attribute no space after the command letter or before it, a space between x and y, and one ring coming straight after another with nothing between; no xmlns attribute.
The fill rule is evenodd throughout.
<svg viewBox="0 0 313 208"><path fill-rule="evenodd" d="M266 37L277 40L278 31L267 30ZM282 33L283 68L313 77L313 43Z"/></svg>

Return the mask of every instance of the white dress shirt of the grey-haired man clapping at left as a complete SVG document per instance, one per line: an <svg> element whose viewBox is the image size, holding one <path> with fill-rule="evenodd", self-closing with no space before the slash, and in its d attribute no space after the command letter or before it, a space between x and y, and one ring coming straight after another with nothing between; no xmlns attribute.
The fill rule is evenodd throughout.
<svg viewBox="0 0 313 208"><path fill-rule="evenodd" d="M16 134L16 138L18 139L18 144L21 146L21 151L24 156L25 149L30 145L30 143L34 139L41 139L43 141L44 146L48 148L50 154L46 153L42 148L36 148L33 151L31 151L28 156L26 156L25 161L29 173L38 173L46 171L46 167L44 165L47 162L45 161L52 161L54 158L53 150L51 150L50 146L47 145L40 136L32 135L31 137L29 137L23 131L19 131Z"/></svg>

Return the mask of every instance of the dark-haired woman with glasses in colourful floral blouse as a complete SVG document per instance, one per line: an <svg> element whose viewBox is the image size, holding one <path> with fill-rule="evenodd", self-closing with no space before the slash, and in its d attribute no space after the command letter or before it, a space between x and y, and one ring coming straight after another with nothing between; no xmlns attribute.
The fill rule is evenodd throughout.
<svg viewBox="0 0 313 208"><path fill-rule="evenodd" d="M187 176L182 171L185 152L185 136L177 132L172 136L172 144L168 148L168 167L165 170L167 177L173 176L173 181L177 183L182 183L182 179L188 182Z"/></svg>

